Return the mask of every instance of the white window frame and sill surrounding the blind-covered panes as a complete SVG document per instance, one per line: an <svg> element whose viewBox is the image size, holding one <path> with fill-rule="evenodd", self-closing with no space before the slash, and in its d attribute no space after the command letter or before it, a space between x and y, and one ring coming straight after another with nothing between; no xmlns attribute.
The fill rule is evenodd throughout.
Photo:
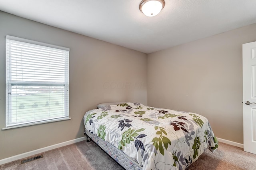
<svg viewBox="0 0 256 170"><path fill-rule="evenodd" d="M65 50L67 52L67 56L65 54L65 62L64 62L64 82L53 82L53 81L42 81L42 82L34 82L34 81L22 81L22 82L15 82L12 81L10 71L11 71L11 66L7 66L7 63L10 63L11 56L10 54L7 54L7 41L9 40L14 40L18 42L23 42L23 43L29 43L32 45L39 45L39 46L44 46L44 47L49 47L49 48L54 48L58 50ZM35 124L43 124L43 123L48 123L48 122L56 122L56 121L62 121L62 120L70 120L71 118L69 117L69 48L66 47L61 47L61 46L56 46L52 44L47 44L43 42L38 42L38 41L33 41L33 40L28 40L24 38L18 38L14 36L9 36L6 35L6 127L2 128L4 129L10 129L10 128L18 128L18 127L23 127L23 126L31 126ZM8 69L9 68L9 69ZM40 68L40 67L39 67ZM50 80L50 79L47 79ZM15 83L14 83L15 82ZM64 86L64 90L67 90L65 92L66 95L64 95L64 112L65 116L62 116L61 118L46 118L46 119L41 119L41 120L29 120L23 123L16 122L15 124L10 124L10 121L8 120L9 116L12 115L10 111L12 111L11 104L11 98L10 92L12 92L12 86L15 84L15 86Z"/></svg>

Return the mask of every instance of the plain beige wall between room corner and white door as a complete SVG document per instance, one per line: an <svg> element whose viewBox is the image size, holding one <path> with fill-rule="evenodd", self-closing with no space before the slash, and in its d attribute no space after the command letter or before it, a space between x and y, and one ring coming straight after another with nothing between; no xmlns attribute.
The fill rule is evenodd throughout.
<svg viewBox="0 0 256 170"><path fill-rule="evenodd" d="M242 44L256 24L148 54L148 105L206 116L218 138L243 143Z"/></svg>

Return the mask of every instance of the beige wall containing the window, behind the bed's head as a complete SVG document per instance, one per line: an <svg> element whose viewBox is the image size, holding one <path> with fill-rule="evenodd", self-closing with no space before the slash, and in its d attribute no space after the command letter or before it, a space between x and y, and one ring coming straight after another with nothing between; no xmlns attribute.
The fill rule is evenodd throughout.
<svg viewBox="0 0 256 170"><path fill-rule="evenodd" d="M70 48L71 120L0 130L0 159L84 136L84 113L98 103L147 104L146 54L0 11L0 129L5 127L6 35Z"/></svg>

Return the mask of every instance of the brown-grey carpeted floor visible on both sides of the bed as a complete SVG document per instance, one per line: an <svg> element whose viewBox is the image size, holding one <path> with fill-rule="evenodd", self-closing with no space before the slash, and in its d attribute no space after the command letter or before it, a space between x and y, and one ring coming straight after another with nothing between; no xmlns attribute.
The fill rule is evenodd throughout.
<svg viewBox="0 0 256 170"><path fill-rule="evenodd" d="M43 158L20 164L0 165L0 170L123 170L94 142L78 142L42 153ZM256 170L256 155L242 148L219 143L212 153L206 150L187 170Z"/></svg>

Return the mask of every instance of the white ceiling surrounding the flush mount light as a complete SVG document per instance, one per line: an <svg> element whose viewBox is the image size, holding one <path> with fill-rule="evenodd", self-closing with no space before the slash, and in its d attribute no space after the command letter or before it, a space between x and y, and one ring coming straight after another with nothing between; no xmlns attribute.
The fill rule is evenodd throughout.
<svg viewBox="0 0 256 170"><path fill-rule="evenodd" d="M146 54L256 23L256 0L0 0L0 10Z"/></svg>

